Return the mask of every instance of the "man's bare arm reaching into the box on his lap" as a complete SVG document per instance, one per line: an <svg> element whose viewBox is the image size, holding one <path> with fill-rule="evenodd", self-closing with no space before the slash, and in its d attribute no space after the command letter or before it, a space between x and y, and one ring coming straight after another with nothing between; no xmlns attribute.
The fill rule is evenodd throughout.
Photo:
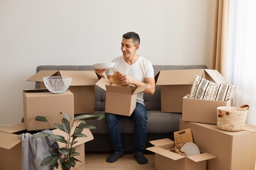
<svg viewBox="0 0 256 170"><path fill-rule="evenodd" d="M108 77L109 78L109 77ZM129 76L129 75L121 75L120 82L122 85L125 84L133 84L134 86L142 86L144 84L148 84L145 91L143 93L147 93L149 95L153 95L155 93L155 78L154 77L147 77L145 78L145 83L140 82L139 80Z"/></svg>

